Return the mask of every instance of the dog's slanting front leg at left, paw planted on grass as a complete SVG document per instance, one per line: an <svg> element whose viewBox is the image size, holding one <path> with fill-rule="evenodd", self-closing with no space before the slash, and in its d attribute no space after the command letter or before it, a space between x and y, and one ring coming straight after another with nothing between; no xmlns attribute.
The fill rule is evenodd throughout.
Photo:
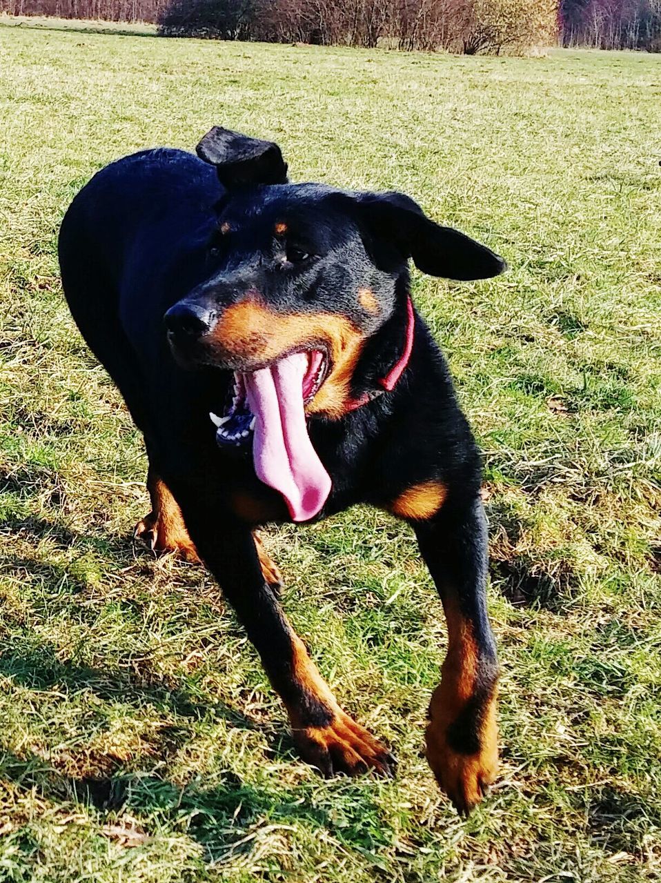
<svg viewBox="0 0 661 883"><path fill-rule="evenodd" d="M202 561L217 578L285 703L301 756L324 775L368 769L390 773L388 751L342 711L287 622L276 594L264 581L251 532L218 524L199 502L182 502L181 508Z"/></svg>

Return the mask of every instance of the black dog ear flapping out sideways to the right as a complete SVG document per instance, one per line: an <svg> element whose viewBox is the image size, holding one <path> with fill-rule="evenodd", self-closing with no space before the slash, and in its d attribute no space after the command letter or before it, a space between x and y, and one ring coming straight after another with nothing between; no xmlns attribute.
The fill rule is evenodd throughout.
<svg viewBox="0 0 661 883"><path fill-rule="evenodd" d="M385 240L423 273L446 279L489 279L505 260L459 230L441 227L404 193L357 193L359 220L371 237Z"/></svg>

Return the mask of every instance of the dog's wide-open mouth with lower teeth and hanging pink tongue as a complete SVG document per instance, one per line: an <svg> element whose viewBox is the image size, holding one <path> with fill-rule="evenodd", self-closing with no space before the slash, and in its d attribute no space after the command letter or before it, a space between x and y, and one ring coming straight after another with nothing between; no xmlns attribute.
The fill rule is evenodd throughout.
<svg viewBox="0 0 661 883"><path fill-rule="evenodd" d="M331 478L308 436L305 406L328 375L320 350L294 352L250 373L234 374L232 401L210 414L221 447L253 442L257 477L285 497L294 521L319 513Z"/></svg>

